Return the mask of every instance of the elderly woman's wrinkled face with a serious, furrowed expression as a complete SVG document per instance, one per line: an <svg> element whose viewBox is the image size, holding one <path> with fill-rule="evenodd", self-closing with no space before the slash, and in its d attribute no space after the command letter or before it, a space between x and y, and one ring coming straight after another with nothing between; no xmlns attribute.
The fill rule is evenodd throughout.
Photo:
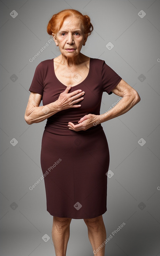
<svg viewBox="0 0 160 256"><path fill-rule="evenodd" d="M87 36L84 36L83 27L76 17L67 17L60 31L54 35L56 46L59 46L62 55L72 58L77 56L85 45Z"/></svg>

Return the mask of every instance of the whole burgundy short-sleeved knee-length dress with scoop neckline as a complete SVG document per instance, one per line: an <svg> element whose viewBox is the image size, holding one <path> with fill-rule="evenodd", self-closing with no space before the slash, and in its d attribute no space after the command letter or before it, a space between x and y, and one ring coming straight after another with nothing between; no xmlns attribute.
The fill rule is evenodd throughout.
<svg viewBox="0 0 160 256"><path fill-rule="evenodd" d="M101 124L86 131L68 129L87 114L100 114L102 93L121 77L104 60L90 58L89 74L69 92L85 92L81 107L62 110L47 119L41 143L47 211L52 216L95 218L107 211L108 143ZM57 100L66 89L55 76L53 59L39 63L29 91L42 95L43 105Z"/></svg>

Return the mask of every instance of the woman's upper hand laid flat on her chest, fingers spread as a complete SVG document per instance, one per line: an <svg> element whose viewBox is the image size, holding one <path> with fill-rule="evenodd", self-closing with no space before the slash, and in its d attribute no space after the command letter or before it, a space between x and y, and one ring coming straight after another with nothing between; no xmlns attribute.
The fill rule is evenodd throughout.
<svg viewBox="0 0 160 256"><path fill-rule="evenodd" d="M82 96L85 92L82 90L76 90L74 92L69 93L70 89L71 85L67 86L66 90L60 93L58 100L54 102L59 111L65 110L67 108L81 107L80 104L76 103L84 99Z"/></svg>

